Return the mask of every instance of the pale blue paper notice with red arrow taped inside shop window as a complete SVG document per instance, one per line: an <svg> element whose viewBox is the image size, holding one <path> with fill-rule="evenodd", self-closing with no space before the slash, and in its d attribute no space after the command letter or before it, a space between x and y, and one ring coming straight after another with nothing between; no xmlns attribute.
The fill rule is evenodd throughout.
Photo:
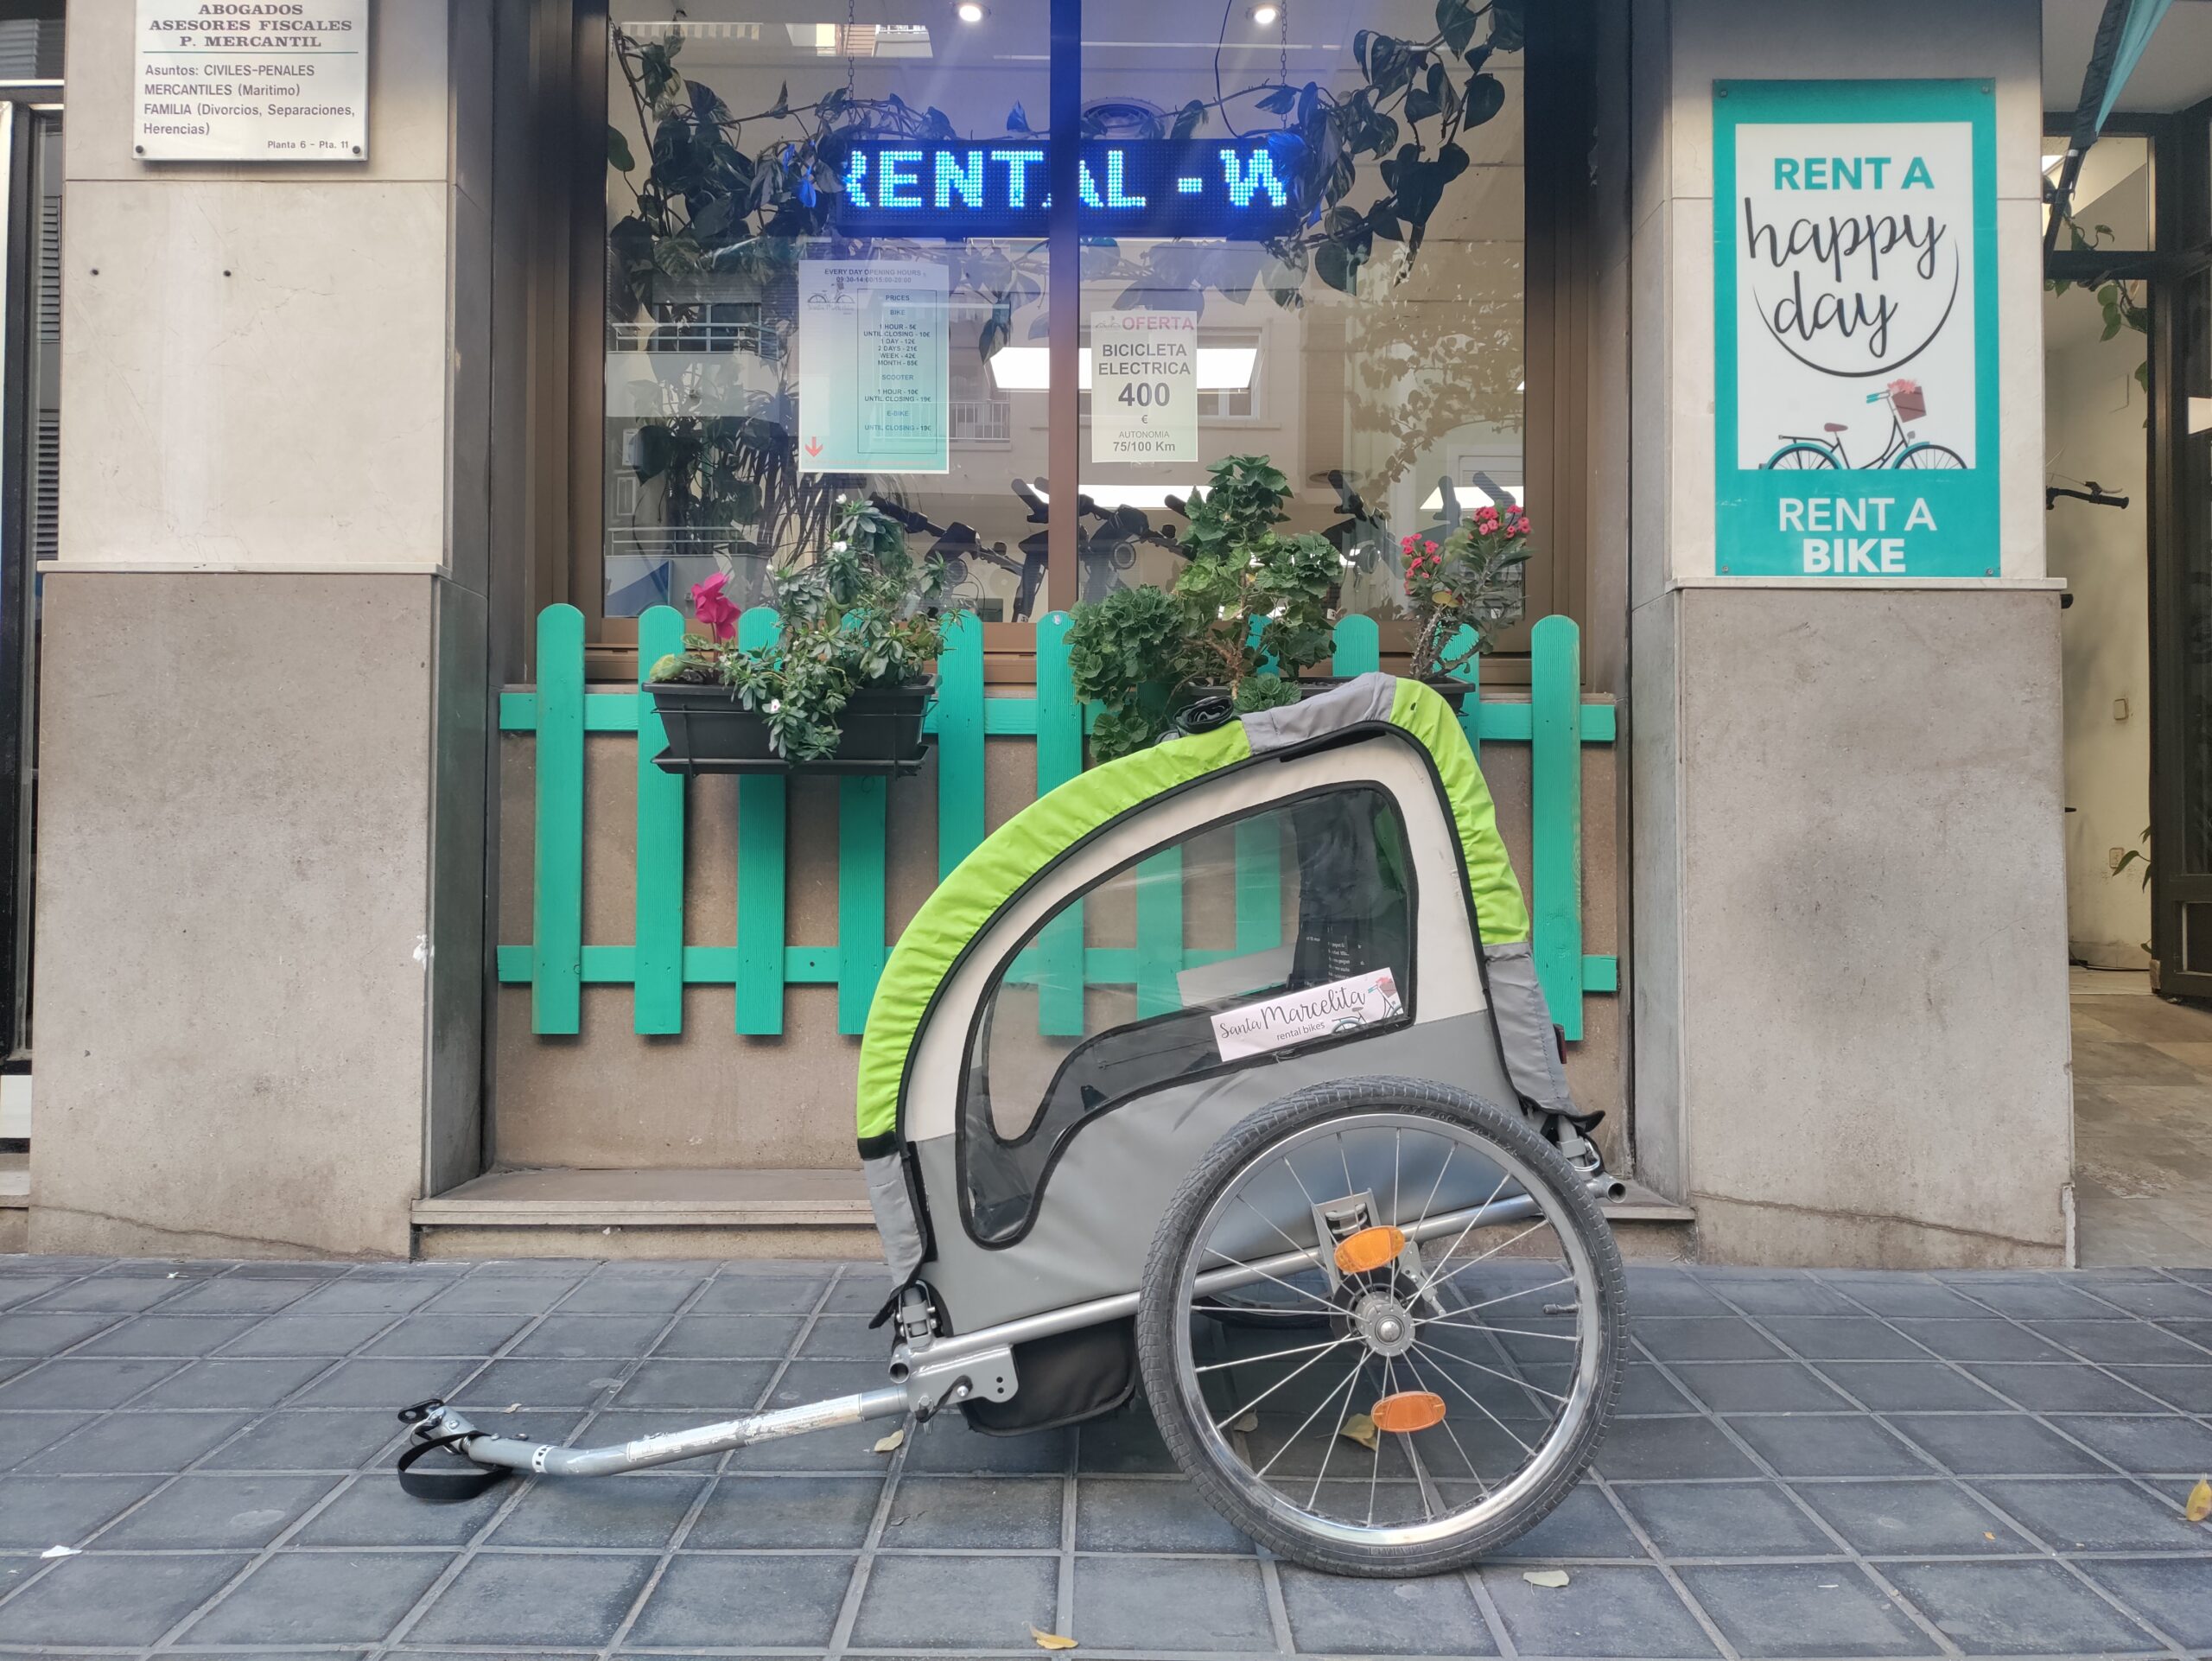
<svg viewBox="0 0 2212 1661"><path fill-rule="evenodd" d="M951 471L947 299L929 261L799 261L801 473Z"/></svg>

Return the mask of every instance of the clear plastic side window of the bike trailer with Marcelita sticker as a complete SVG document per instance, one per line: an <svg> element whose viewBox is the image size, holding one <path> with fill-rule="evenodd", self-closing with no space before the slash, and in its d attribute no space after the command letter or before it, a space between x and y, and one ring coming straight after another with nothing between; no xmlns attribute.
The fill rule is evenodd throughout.
<svg viewBox="0 0 2212 1661"><path fill-rule="evenodd" d="M1274 891L1254 905L1254 871L1270 869ZM1363 785L1164 843L1055 909L1000 964L969 1040L960 1170L975 1239L1004 1243L1029 1225L1053 1157L1086 1119L1409 1020L1413 898L1405 821ZM1044 944L1135 962L1137 918L1155 900L1183 916L1181 969L1099 984L1075 951ZM1296 1037L1312 1024L1296 993L1323 986L1338 993L1336 1031ZM1274 1033L1281 1022L1292 1026Z"/></svg>

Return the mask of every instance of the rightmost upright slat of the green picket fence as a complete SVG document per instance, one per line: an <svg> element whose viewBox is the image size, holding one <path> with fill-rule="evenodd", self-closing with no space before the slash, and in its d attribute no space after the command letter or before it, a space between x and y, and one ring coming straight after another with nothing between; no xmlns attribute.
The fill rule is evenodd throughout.
<svg viewBox="0 0 2212 1661"><path fill-rule="evenodd" d="M1535 975L1551 1017L1582 1037L1582 635L1546 617L1528 650Z"/></svg>

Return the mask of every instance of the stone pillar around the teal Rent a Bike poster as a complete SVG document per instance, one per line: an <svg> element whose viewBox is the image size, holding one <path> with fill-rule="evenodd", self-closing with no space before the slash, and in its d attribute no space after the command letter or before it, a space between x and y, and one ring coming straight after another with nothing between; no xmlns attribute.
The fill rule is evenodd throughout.
<svg viewBox="0 0 2212 1661"><path fill-rule="evenodd" d="M2042 544L2039 7L1628 7L1637 1170L1717 1261L2055 1263L2073 1157ZM1991 77L2002 582L1714 575L1712 82Z"/></svg>

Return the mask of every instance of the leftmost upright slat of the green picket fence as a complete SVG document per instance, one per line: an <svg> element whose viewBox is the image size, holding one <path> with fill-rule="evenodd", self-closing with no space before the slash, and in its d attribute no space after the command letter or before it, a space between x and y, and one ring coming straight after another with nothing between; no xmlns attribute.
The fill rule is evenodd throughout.
<svg viewBox="0 0 2212 1661"><path fill-rule="evenodd" d="M538 894L531 1031L575 1033L584 1013L584 613L538 613Z"/></svg>

